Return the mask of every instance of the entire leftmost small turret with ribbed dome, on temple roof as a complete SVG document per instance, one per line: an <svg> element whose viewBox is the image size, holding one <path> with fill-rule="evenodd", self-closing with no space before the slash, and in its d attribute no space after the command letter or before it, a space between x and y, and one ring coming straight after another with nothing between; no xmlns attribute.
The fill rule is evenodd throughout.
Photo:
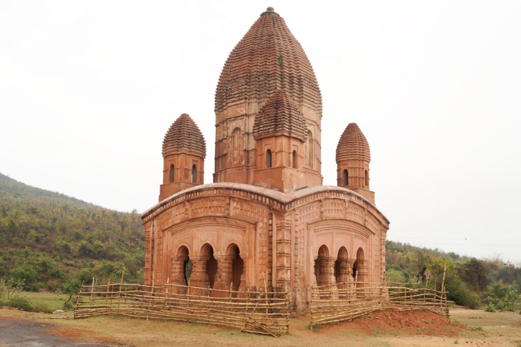
<svg viewBox="0 0 521 347"><path fill-rule="evenodd" d="M163 140L163 184L159 201L204 183L206 142L201 130L183 113L172 123Z"/></svg>

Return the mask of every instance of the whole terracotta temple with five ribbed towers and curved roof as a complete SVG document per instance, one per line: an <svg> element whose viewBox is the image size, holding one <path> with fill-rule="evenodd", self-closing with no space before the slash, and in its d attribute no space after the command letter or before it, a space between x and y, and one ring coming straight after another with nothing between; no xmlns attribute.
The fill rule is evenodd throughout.
<svg viewBox="0 0 521 347"><path fill-rule="evenodd" d="M369 144L355 123L337 146L337 186L322 185L322 100L300 43L273 8L233 48L215 92L214 183L187 114L163 141L159 203L143 215L145 284L289 291L382 282L389 221L369 189ZM327 170L334 170L328 167ZM181 288L182 290L182 288Z"/></svg>

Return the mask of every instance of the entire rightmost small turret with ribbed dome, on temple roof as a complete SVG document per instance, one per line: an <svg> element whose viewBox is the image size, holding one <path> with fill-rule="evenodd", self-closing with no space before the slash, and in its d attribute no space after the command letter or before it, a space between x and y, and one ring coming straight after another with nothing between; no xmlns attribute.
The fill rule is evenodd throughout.
<svg viewBox="0 0 521 347"><path fill-rule="evenodd" d="M337 145L337 184L351 189L375 203L369 190L369 143L356 123L349 123Z"/></svg>

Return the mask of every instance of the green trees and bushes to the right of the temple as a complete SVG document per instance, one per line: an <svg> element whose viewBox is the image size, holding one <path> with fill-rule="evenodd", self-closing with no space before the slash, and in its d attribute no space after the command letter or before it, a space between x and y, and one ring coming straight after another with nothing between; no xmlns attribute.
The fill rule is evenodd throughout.
<svg viewBox="0 0 521 347"><path fill-rule="evenodd" d="M453 252L421 249L387 241L387 279L422 282L441 289L446 264L445 288L449 300L469 308L485 306L488 311L521 311L521 268L498 259L462 257ZM521 312L520 312L521 313Z"/></svg>

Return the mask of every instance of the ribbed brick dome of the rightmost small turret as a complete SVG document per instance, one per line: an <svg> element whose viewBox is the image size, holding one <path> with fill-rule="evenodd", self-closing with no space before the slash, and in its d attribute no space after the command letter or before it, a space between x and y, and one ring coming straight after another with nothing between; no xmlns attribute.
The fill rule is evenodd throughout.
<svg viewBox="0 0 521 347"><path fill-rule="evenodd" d="M356 123L349 123L337 145L337 163L340 160L371 161L369 143Z"/></svg>

